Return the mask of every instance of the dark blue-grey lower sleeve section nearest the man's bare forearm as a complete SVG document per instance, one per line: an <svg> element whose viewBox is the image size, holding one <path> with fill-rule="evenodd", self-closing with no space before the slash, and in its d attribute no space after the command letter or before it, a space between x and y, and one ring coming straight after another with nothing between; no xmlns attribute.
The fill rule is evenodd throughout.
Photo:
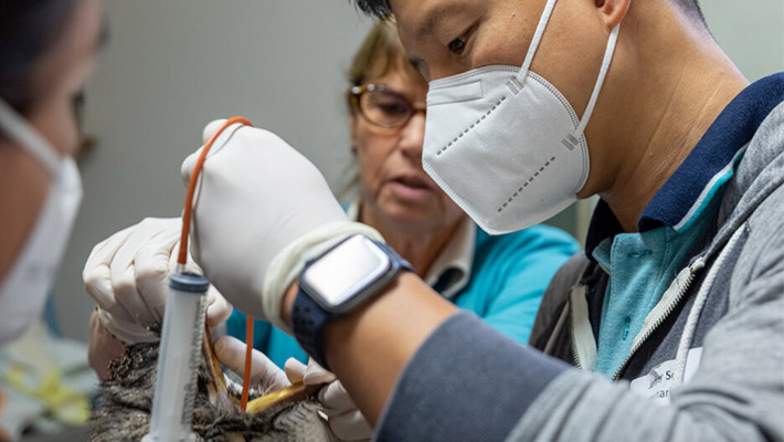
<svg viewBox="0 0 784 442"><path fill-rule="evenodd" d="M404 369L377 425L378 441L502 441L569 367L459 313Z"/></svg>

